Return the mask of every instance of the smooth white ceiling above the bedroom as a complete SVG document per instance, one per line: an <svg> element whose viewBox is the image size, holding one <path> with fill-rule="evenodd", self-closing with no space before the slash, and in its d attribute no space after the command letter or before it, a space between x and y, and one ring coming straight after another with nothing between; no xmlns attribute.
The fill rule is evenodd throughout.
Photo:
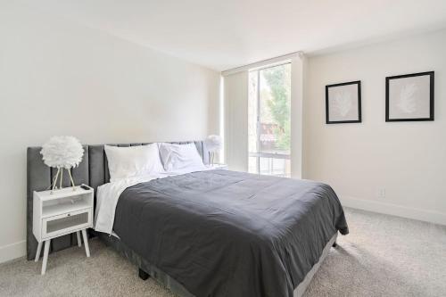
<svg viewBox="0 0 446 297"><path fill-rule="evenodd" d="M214 70L446 28L445 0L45 0L41 9Z"/></svg>

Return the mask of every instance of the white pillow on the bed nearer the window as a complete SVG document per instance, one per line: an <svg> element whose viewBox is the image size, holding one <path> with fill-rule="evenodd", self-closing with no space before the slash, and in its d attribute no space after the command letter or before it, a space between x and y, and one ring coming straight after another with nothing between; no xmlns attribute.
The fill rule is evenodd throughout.
<svg viewBox="0 0 446 297"><path fill-rule="evenodd" d="M160 155L164 169L168 172L206 169L195 144L160 144Z"/></svg>

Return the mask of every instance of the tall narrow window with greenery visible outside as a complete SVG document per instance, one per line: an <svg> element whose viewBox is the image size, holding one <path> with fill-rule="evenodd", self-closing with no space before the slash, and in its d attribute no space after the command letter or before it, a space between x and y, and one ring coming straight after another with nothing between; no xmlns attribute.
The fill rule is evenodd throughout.
<svg viewBox="0 0 446 297"><path fill-rule="evenodd" d="M249 73L249 172L290 177L291 63Z"/></svg>

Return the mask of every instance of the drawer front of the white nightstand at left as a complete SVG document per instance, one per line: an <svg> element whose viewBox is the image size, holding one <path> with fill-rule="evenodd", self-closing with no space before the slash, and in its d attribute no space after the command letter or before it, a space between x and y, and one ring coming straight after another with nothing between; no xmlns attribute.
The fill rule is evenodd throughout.
<svg viewBox="0 0 446 297"><path fill-rule="evenodd" d="M42 219L42 238L71 233L78 229L91 227L92 211L77 210L58 216Z"/></svg>

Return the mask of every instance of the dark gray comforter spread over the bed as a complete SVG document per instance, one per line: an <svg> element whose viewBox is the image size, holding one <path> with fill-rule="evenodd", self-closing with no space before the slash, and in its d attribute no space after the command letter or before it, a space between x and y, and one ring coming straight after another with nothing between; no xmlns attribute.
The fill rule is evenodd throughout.
<svg viewBox="0 0 446 297"><path fill-rule="evenodd" d="M211 170L121 195L122 242L195 296L293 296L338 230L335 192L309 180Z"/></svg>

